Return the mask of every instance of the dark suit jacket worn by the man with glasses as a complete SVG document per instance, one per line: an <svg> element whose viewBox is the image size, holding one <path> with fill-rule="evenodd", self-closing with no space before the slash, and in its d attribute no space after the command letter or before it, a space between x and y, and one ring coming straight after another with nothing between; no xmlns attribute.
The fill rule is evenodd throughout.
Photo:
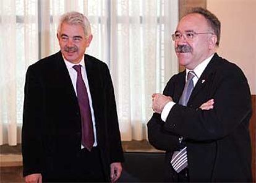
<svg viewBox="0 0 256 183"><path fill-rule="evenodd" d="M174 75L164 89L176 104L166 122L153 114L148 122L150 143L166 151L166 180L174 169L169 163L179 150L179 137L187 145L192 182L252 181L249 119L250 89L242 70L215 54L198 79L187 106L177 104L185 85L186 71ZM214 109L199 109L213 98Z"/></svg>

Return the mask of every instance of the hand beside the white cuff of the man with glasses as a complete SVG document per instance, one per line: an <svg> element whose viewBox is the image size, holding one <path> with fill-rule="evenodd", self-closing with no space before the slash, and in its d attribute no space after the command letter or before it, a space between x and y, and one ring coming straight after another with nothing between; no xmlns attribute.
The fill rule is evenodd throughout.
<svg viewBox="0 0 256 183"><path fill-rule="evenodd" d="M161 95L160 93L154 93L152 95L152 109L155 113L161 114L164 106L169 102L173 101L171 96Z"/></svg>

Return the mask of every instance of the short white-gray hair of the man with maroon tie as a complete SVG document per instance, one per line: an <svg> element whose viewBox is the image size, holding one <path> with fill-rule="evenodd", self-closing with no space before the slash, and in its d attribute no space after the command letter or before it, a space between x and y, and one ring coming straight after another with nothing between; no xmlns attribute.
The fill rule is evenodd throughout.
<svg viewBox="0 0 256 183"><path fill-rule="evenodd" d="M81 25L83 28L83 32L85 33L85 38L88 38L88 36L92 35L91 33L91 25L87 17L85 15L79 13L79 12L67 12L63 15L61 15L59 19L59 25L58 25L58 34L61 32L61 25L62 23L68 23L70 25Z"/></svg>

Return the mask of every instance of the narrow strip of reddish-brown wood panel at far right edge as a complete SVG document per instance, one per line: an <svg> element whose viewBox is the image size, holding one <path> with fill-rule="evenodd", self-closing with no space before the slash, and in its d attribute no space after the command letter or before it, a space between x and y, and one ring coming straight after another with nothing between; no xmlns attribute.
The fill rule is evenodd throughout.
<svg viewBox="0 0 256 183"><path fill-rule="evenodd" d="M252 177L256 182L256 95L252 95L252 118L250 119L250 138L252 140Z"/></svg>

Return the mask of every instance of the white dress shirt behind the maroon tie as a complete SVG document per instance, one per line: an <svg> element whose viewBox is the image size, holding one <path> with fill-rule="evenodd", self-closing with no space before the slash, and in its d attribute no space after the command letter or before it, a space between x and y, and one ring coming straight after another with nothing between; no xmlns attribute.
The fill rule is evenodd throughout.
<svg viewBox="0 0 256 183"><path fill-rule="evenodd" d="M90 87L89 87L89 83L88 83L88 79L87 79L87 73L85 70L85 62L84 62L84 56L82 57L81 61L77 64L73 64L69 61L67 61L65 59L65 57L62 55L64 62L67 66L67 70L69 70L69 76L70 79L72 81L72 85L74 87L75 90L75 94L77 95L77 71L73 68L73 66L75 65L81 65L81 72L82 72L82 78L83 78L83 82L85 83L85 87L87 88L87 93L88 93L88 98L89 98L89 103L90 103L90 109L91 109L91 113L92 113L92 122L93 122L93 134L94 134L94 139L95 142L93 143L93 147L97 146L97 138L96 138L96 127L95 127L95 116L94 116L94 111L93 111L93 106L92 106L92 96L90 93ZM82 145L81 145L82 146ZM82 146L83 148L83 146Z"/></svg>

